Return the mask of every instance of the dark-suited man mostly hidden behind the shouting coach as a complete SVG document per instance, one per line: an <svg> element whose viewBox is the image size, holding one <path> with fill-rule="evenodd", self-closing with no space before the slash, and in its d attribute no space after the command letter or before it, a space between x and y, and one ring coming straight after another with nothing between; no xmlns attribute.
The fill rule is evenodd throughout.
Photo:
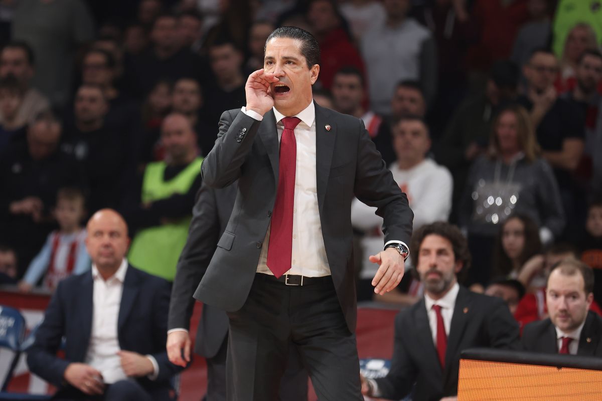
<svg viewBox="0 0 602 401"><path fill-rule="evenodd" d="M193 209L190 235L178 261L173 281L172 299L167 320L167 356L172 363L186 366L190 362L191 340L188 335L194 307L193 293L202 279L226 229L236 198L237 185L222 189L202 185ZM194 351L206 358L206 401L226 399L226 350L228 349L228 316L225 311L203 305ZM291 347L287 371L282 378L280 399L307 401L307 373L297 350Z"/></svg>

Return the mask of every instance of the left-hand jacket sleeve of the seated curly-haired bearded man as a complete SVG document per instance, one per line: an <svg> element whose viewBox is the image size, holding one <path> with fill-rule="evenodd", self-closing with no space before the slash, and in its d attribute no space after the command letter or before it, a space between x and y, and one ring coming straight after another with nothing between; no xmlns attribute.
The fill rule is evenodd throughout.
<svg viewBox="0 0 602 401"><path fill-rule="evenodd" d="M407 322L403 322L402 314L395 319L395 342L391 370L384 378L376 379L380 396L391 400L400 400L412 390L417 376L417 366L412 360L406 343L408 332Z"/></svg>

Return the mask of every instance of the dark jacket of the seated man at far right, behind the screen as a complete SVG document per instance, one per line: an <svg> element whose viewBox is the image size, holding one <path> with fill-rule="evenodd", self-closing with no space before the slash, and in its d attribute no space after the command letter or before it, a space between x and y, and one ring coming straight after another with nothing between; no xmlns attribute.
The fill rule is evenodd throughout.
<svg viewBox="0 0 602 401"><path fill-rule="evenodd" d="M526 325L523 329L522 343L526 351L558 354L556 328L549 317ZM602 317L591 310L585 317L577 355L602 357Z"/></svg>

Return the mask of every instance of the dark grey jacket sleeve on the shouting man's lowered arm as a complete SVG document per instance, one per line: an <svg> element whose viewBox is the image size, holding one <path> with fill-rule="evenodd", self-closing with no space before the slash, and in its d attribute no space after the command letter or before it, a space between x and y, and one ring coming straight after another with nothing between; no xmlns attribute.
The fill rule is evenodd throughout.
<svg viewBox="0 0 602 401"><path fill-rule="evenodd" d="M385 242L400 240L409 244L414 213L409 207L408 197L399 189L393 174L386 168L364 122L359 120L359 124L355 195L368 206L377 208L376 214L384 220L382 231Z"/></svg>

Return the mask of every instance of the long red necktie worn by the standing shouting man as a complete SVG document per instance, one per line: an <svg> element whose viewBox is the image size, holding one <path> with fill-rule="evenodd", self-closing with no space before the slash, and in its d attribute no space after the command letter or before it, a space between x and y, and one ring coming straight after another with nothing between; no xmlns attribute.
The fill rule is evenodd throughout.
<svg viewBox="0 0 602 401"><path fill-rule="evenodd" d="M293 254L293 204L297 168L297 142L294 129L301 120L284 117L280 139L278 191L272 213L270 243L267 248L267 267L278 278L291 268Z"/></svg>

